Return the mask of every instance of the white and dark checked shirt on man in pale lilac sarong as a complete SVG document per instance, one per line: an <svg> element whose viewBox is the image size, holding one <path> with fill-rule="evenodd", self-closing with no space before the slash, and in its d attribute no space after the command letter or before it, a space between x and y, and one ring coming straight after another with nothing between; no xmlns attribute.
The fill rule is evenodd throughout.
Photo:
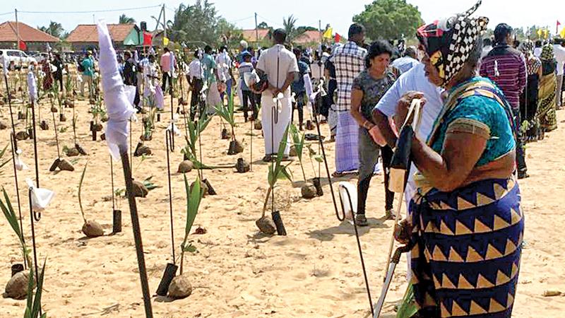
<svg viewBox="0 0 565 318"><path fill-rule="evenodd" d="M330 58L335 66L335 79L338 82L338 111L351 109L353 80L365 69L366 56L367 49L350 41L335 49Z"/></svg>

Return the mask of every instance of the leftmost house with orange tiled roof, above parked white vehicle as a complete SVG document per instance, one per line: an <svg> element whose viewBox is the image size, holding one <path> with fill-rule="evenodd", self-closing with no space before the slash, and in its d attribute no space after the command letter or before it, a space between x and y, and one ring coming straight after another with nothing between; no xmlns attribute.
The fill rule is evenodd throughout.
<svg viewBox="0 0 565 318"><path fill-rule="evenodd" d="M3 49L18 49L18 31L20 40L25 42L28 51L45 51L47 44L53 46L61 42L59 38L30 27L25 23L6 21L0 24L0 47Z"/></svg>

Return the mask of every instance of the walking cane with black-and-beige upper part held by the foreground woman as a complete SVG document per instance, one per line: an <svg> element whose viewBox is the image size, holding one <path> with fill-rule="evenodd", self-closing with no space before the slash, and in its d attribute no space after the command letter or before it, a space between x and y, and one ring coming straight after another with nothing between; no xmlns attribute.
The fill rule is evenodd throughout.
<svg viewBox="0 0 565 318"><path fill-rule="evenodd" d="M400 220L400 213L402 213L403 198L406 189L406 184L408 183L408 176L410 175L410 167L412 166L412 160L410 159L410 148L412 146L412 137L415 135L415 131L420 127L420 122L422 120L422 100L415 99L412 100L410 108L408 109L408 114L406 115L405 122L400 128L400 136L396 143L396 151L394 152L393 158L391 160L390 168L390 183L388 184L388 189L392 192L400 193L400 199L398 200L398 209L396 211L395 227ZM408 120L414 114L414 120L412 124L408 124ZM394 231L394 227L393 227ZM409 252L412 249L412 245L408 244L403 247L398 247L394 256L392 257L392 250L394 247L394 232L391 237L391 244L388 249L388 259L386 261L387 267L385 268L385 279L383 283L383 288L381 290L381 297L376 303L374 310L374 318L378 318L381 313L384 300L386 298L386 293L388 287L391 285L394 270L396 265L400 261L400 255Z"/></svg>

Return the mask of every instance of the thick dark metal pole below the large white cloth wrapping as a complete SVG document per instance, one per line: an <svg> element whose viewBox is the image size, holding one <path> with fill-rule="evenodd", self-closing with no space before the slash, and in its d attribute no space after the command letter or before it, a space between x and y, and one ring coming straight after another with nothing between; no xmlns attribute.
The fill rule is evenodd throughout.
<svg viewBox="0 0 565 318"><path fill-rule="evenodd" d="M149 283L147 280L147 270L145 269L145 256L143 255L143 242L141 241L141 229L137 213L136 198L133 194L133 180L129 166L127 146L119 146L121 165L124 168L124 179L126 181L126 192L128 195L129 211L131 214L131 228L133 229L133 240L136 242L136 254L138 260L139 277L141 280L141 290L143 293L143 304L145 306L145 317L153 318L151 299L149 293Z"/></svg>

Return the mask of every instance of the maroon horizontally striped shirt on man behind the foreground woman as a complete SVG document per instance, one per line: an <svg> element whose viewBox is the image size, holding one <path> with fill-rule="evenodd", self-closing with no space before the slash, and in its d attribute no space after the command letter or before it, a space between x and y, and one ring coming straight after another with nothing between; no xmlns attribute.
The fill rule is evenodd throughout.
<svg viewBox="0 0 565 318"><path fill-rule="evenodd" d="M482 59L480 75L499 86L513 109L520 107L520 94L526 80L525 59L521 52L508 45L494 47Z"/></svg>

